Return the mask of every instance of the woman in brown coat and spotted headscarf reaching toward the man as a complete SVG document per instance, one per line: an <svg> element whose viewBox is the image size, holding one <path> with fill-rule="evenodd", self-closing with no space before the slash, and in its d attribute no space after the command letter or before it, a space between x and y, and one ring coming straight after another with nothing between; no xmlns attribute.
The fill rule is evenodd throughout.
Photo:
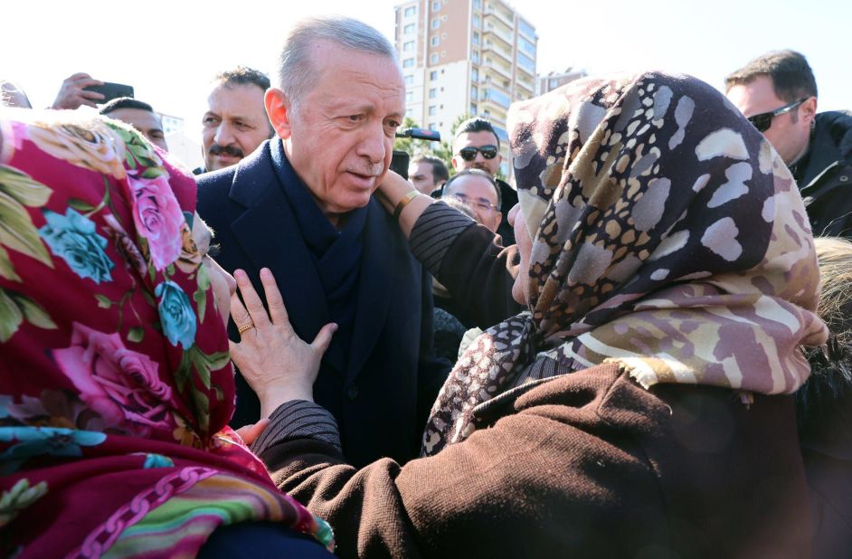
<svg viewBox="0 0 852 559"><path fill-rule="evenodd" d="M573 82L510 120L528 310L461 356L402 467L346 465L310 374L244 368L281 403L253 444L279 488L347 557L808 556L790 393L826 332L781 159L684 76Z"/></svg>

